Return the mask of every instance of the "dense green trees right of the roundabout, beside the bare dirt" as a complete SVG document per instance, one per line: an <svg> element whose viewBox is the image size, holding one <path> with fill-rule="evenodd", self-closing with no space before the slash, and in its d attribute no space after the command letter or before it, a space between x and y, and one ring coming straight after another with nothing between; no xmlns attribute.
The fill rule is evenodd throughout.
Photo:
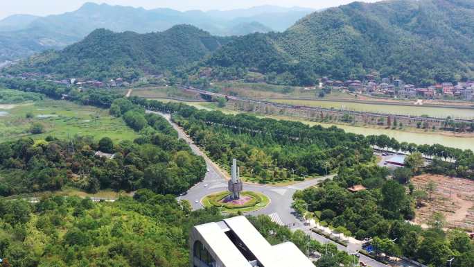
<svg viewBox="0 0 474 267"><path fill-rule="evenodd" d="M308 207L321 225L357 239L370 238L376 253L405 256L428 266L446 266L454 256L452 266L472 266L474 243L468 234L445 231L441 214L431 218L428 229L405 221L414 218L415 203L428 195L412 186L407 190L387 175L387 169L378 166L342 168L333 181L295 193L293 206L301 214ZM346 188L354 182L367 190L349 192Z"/></svg>

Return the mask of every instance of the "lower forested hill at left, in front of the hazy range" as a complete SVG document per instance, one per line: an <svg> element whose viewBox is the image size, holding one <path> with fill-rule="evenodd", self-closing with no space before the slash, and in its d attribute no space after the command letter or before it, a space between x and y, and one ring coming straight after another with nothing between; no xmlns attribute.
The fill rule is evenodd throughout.
<svg viewBox="0 0 474 267"><path fill-rule="evenodd" d="M173 26L161 33L114 33L98 29L62 51L33 56L26 65L46 73L105 80L157 74L200 60L227 42L194 26Z"/></svg>

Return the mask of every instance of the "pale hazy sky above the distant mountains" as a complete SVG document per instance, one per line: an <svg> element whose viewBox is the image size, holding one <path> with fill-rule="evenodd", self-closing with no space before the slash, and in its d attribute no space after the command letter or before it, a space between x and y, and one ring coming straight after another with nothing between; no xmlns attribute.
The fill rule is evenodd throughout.
<svg viewBox="0 0 474 267"><path fill-rule="evenodd" d="M109 3L121 6L151 8L173 8L176 10L228 10L252 6L302 6L328 8L350 3L354 0L0 0L0 19L14 14L51 15L73 11L85 2ZM362 0L375 2L376 0Z"/></svg>

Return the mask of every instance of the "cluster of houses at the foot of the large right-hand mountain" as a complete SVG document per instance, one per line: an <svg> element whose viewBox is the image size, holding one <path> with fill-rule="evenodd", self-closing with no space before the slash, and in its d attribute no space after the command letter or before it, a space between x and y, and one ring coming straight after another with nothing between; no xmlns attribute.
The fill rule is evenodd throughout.
<svg viewBox="0 0 474 267"><path fill-rule="evenodd" d="M377 82L374 75L367 75L363 81L341 81L323 77L321 78L321 86L339 87L349 89L351 92L374 96L396 98L439 98L442 96L453 96L468 101L474 100L474 81L457 83L457 85L453 85L453 83L439 83L429 87L416 87L415 85L405 84L400 79L382 78L380 82Z"/></svg>

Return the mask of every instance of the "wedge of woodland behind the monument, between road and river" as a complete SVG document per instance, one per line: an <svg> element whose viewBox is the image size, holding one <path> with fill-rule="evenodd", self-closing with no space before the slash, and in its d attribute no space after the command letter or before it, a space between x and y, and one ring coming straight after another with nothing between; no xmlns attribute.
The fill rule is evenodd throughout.
<svg viewBox="0 0 474 267"><path fill-rule="evenodd" d="M188 117L178 112L173 121L215 162L229 166L236 158L241 175L264 183L288 180L292 175L324 175L372 157L363 137L335 127L310 128L303 123L204 110Z"/></svg>

